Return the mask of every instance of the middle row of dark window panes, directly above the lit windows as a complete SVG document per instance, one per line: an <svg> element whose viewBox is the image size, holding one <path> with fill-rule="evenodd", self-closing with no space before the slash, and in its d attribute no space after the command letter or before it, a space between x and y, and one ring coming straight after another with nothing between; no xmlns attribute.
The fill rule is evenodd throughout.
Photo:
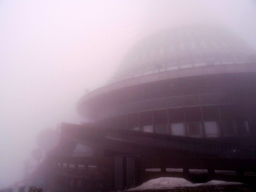
<svg viewBox="0 0 256 192"><path fill-rule="evenodd" d="M243 111L239 110L234 105L209 105L129 113L103 119L99 121L99 123L102 128L126 130L148 125L160 126L160 124L179 124L180 122L202 121L236 121L238 127L243 127L242 122L246 121L246 119Z"/></svg>

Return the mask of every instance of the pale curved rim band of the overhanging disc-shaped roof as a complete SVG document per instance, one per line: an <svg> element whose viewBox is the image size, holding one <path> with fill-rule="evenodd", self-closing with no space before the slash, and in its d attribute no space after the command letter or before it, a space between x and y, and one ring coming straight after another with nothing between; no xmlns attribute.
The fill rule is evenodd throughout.
<svg viewBox="0 0 256 192"><path fill-rule="evenodd" d="M90 110L89 108L87 108L87 106L88 106L88 103L90 103L92 100L94 100L100 95L104 95L112 91L122 90L123 92L125 92L125 89L131 86L138 86L138 85L143 85L147 83L178 79L178 78L214 75L214 74L231 74L231 73L256 73L256 63L213 65L213 66L209 65L209 66L203 66L203 67L164 71L164 72L149 74L146 76L125 79L123 81L106 85L104 87L95 89L85 94L76 103L76 109L78 113L80 113L82 116L89 116Z"/></svg>

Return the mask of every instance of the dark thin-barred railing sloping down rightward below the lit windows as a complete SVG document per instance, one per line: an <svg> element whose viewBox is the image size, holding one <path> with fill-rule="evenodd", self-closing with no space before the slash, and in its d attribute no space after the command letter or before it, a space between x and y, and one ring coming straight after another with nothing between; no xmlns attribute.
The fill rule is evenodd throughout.
<svg viewBox="0 0 256 192"><path fill-rule="evenodd" d="M134 142L143 145L173 148L214 156L224 157L255 157L256 149L240 144L226 143L203 138L190 138L163 134L113 130L105 131L105 139Z"/></svg>

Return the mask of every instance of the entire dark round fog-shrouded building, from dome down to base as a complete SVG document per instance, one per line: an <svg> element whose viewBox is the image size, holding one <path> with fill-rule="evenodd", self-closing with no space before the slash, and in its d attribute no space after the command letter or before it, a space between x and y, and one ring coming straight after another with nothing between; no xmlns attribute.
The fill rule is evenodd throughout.
<svg viewBox="0 0 256 192"><path fill-rule="evenodd" d="M253 183L244 172L256 172L255 98L255 51L236 35L212 26L153 34L127 53L110 84L78 101L90 123L60 124L41 180L50 191L132 188L160 176Z"/></svg>

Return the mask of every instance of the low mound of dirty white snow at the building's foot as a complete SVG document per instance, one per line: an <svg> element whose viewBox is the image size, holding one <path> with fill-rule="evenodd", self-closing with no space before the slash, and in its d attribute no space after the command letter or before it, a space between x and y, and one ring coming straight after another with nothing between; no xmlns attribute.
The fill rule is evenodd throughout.
<svg viewBox="0 0 256 192"><path fill-rule="evenodd" d="M202 185L242 185L243 183L238 182L227 182L227 181L218 181L211 180L207 183L192 183L183 178L176 177L160 177L157 179L149 180L142 185L128 189L127 191L135 191L135 190L149 190L149 189L169 189L176 187L196 187Z"/></svg>

